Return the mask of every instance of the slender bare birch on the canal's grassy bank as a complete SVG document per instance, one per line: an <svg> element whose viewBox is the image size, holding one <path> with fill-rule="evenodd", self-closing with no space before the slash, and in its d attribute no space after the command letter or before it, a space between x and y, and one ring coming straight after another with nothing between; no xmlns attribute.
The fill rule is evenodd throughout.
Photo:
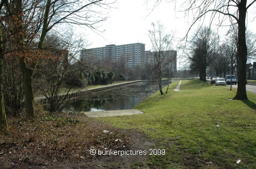
<svg viewBox="0 0 256 169"><path fill-rule="evenodd" d="M148 37L151 40L153 55L157 65L158 72L158 87L161 95L162 91L162 75L163 69L170 64L168 58L168 50L172 48L172 41L174 39L174 33L165 33L164 26L157 21L157 23L152 23L152 31L148 31Z"/></svg>

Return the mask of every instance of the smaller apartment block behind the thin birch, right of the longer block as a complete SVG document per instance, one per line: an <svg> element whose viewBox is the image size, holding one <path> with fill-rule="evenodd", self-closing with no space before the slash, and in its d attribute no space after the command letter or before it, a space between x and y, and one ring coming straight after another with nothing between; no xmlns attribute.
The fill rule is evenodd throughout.
<svg viewBox="0 0 256 169"><path fill-rule="evenodd" d="M157 52L147 50L145 51L145 66L155 65L157 63L155 55ZM161 58L163 58L163 65L166 65L166 68L171 68L173 72L177 71L177 51L176 50L167 50L162 51Z"/></svg>

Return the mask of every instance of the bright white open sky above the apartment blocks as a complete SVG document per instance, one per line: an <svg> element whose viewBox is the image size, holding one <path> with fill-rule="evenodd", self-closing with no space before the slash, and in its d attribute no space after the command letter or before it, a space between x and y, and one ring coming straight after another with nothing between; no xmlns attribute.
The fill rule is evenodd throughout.
<svg viewBox="0 0 256 169"><path fill-rule="evenodd" d="M103 47L110 44L144 43L145 50L150 50L152 49L152 44L148 37L148 30L152 30L151 23L156 23L158 20L166 28L166 33L175 31L177 38L184 38L192 19L184 18L183 12L177 12L179 7L176 7L175 10L174 3L166 1L162 1L152 11L155 1L148 0L152 4L145 4L146 0L117 0L109 11L108 20L101 23L100 30L104 30L103 33L97 34L88 29L80 30L86 35L86 39L90 43L87 48ZM252 20L252 18L247 19L248 28L256 34L256 19ZM193 29L189 32L189 36L193 35L197 26L194 26ZM218 33L226 33L226 30L227 27L220 27ZM175 50L177 43L174 42Z"/></svg>

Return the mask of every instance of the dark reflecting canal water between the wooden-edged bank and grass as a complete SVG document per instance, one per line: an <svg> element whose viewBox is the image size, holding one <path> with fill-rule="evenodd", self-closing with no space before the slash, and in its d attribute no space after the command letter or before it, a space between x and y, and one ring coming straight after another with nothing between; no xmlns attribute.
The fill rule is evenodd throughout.
<svg viewBox="0 0 256 169"><path fill-rule="evenodd" d="M168 81L162 81L162 87ZM137 82L95 93L91 98L81 98L66 106L66 112L132 109L158 91L158 81Z"/></svg>

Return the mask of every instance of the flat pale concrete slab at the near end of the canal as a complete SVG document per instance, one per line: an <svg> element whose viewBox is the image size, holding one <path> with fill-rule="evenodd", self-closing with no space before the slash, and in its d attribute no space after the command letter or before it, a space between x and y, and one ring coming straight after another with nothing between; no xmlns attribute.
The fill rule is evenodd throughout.
<svg viewBox="0 0 256 169"><path fill-rule="evenodd" d="M144 112L137 109L125 109L125 110L87 111L82 113L90 118L102 118L102 117L110 117L110 116L138 115L138 114L143 114Z"/></svg>

